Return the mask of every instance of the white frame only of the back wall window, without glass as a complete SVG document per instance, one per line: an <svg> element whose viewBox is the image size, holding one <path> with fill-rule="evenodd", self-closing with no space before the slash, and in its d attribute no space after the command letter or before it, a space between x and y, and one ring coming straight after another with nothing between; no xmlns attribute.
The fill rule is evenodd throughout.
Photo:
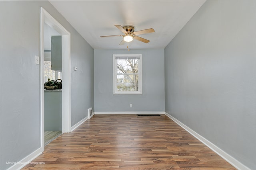
<svg viewBox="0 0 256 170"><path fill-rule="evenodd" d="M117 77L117 66L116 66L116 58L134 58L138 57L139 60L139 80L138 80L138 91L117 91L116 77ZM114 54L113 55L113 94L142 94L142 55L141 54Z"/></svg>

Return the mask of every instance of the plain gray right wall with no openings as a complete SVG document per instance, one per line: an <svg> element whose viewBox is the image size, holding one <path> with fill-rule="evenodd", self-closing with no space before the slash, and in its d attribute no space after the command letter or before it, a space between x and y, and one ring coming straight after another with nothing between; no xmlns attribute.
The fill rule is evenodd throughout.
<svg viewBox="0 0 256 170"><path fill-rule="evenodd" d="M255 1L206 1L165 48L165 110L256 169Z"/></svg>

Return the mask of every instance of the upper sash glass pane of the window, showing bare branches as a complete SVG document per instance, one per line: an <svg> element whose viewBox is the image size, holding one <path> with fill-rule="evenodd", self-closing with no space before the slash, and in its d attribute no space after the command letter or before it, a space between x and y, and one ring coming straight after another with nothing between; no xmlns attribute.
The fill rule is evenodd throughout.
<svg viewBox="0 0 256 170"><path fill-rule="evenodd" d="M138 73L138 59L117 59L117 73Z"/></svg>

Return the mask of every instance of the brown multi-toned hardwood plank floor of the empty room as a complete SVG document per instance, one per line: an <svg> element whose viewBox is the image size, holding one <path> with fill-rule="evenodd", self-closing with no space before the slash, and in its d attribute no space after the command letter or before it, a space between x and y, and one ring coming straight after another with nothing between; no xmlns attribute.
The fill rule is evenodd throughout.
<svg viewBox="0 0 256 170"><path fill-rule="evenodd" d="M166 115L94 115L26 170L235 169Z"/></svg>

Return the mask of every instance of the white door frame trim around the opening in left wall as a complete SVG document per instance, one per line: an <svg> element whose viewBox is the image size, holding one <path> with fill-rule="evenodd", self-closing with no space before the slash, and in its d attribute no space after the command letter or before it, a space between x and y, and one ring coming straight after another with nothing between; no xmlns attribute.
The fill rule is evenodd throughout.
<svg viewBox="0 0 256 170"><path fill-rule="evenodd" d="M62 35L62 133L71 131L70 32L41 7L40 16L40 118L41 147L44 151L44 23Z"/></svg>

